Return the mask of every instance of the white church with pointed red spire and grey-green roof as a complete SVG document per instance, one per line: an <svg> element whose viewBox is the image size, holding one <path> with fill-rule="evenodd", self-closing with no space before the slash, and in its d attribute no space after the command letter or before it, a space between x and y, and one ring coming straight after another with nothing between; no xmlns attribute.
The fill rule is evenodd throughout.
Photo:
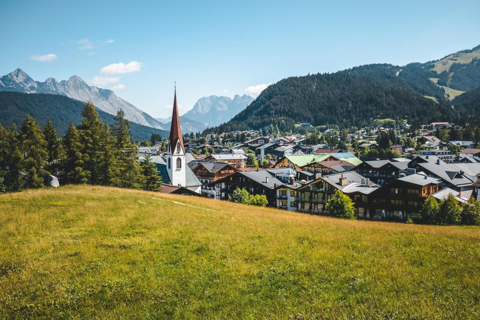
<svg viewBox="0 0 480 320"><path fill-rule="evenodd" d="M185 153L183 146L177 106L177 88L175 88L167 155L165 158L163 156L152 156L152 161L156 163L156 168L160 172L159 175L162 176L164 186L162 192L169 193L171 190L176 190L175 192L179 194L201 194L202 183L188 166L188 163L192 160L194 160L192 155Z"/></svg>

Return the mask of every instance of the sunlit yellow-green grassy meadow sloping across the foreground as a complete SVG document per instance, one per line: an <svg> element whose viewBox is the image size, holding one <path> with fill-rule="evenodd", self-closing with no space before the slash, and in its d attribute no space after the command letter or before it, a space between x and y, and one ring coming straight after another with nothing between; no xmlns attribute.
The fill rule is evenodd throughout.
<svg viewBox="0 0 480 320"><path fill-rule="evenodd" d="M0 318L478 319L479 243L116 188L6 194Z"/></svg>

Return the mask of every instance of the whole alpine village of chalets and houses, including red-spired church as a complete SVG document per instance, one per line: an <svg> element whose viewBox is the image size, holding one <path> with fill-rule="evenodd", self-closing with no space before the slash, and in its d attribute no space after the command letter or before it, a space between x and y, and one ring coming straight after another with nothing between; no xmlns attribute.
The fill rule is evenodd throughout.
<svg viewBox="0 0 480 320"><path fill-rule="evenodd" d="M312 214L328 214L337 190L353 200L358 219L380 221L421 222L430 196L451 195L460 206L470 197L480 200L480 148L474 141L438 138L461 132L452 123L430 123L410 133L407 123L372 124L351 133L317 132L309 123L299 128L306 133L281 135L270 126L265 134L182 136L175 95L170 136L140 147L138 156L151 156L163 193L228 200L245 189L265 196L268 207Z"/></svg>

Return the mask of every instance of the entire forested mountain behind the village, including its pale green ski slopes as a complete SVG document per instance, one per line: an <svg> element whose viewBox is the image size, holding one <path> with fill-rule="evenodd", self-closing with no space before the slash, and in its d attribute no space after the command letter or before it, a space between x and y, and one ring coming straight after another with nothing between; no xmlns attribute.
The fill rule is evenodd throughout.
<svg viewBox="0 0 480 320"><path fill-rule="evenodd" d="M480 113L460 98L480 86L479 58L477 46L424 63L377 63L285 78L268 86L227 123L204 133L270 124L290 130L295 123L360 127L384 118L407 119L414 127L435 121L464 123Z"/></svg>

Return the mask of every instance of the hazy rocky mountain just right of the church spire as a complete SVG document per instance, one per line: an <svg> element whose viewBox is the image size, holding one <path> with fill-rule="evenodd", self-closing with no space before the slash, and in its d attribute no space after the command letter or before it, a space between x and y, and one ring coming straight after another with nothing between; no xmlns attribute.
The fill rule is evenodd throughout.
<svg viewBox="0 0 480 320"><path fill-rule="evenodd" d="M210 96L198 99L192 110L183 115L206 126L215 126L225 123L237 113L245 109L254 99L247 95L235 97Z"/></svg>

